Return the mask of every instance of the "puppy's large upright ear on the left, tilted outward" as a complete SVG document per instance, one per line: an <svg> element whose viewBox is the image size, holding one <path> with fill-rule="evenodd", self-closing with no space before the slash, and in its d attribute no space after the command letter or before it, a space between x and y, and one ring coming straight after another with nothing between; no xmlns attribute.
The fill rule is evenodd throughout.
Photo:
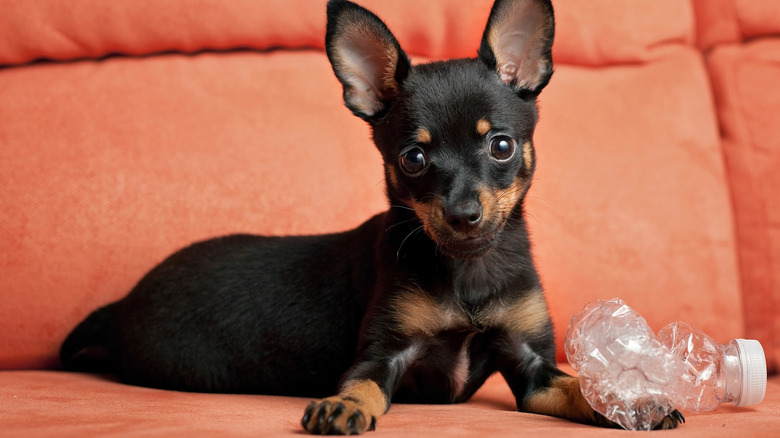
<svg viewBox="0 0 780 438"><path fill-rule="evenodd" d="M349 1L331 0L325 49L347 108L367 121L384 115L411 64L382 20Z"/></svg>

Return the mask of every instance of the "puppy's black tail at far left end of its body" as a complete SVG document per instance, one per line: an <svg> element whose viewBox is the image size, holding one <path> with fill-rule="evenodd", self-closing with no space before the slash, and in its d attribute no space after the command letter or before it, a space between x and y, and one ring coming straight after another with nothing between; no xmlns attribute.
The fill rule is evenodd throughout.
<svg viewBox="0 0 780 438"><path fill-rule="evenodd" d="M60 362L69 371L109 372L113 368L109 355L112 339L111 322L114 304L101 307L81 321L65 338L60 348Z"/></svg>

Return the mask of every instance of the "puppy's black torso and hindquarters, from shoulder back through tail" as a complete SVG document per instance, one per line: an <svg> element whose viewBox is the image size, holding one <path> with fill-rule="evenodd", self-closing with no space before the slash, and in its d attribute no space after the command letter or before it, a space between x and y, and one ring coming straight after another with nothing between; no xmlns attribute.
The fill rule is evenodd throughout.
<svg viewBox="0 0 780 438"><path fill-rule="evenodd" d="M193 244L79 324L62 365L183 391L332 393L354 360L378 222Z"/></svg>

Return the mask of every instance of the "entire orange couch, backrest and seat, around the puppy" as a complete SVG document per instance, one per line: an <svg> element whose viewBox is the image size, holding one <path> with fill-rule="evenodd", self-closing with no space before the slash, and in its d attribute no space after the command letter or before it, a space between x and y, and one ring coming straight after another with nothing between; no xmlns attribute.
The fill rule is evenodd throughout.
<svg viewBox="0 0 780 438"><path fill-rule="evenodd" d="M415 61L473 56L492 0L361 0ZM780 10L774 0L555 1L528 214L559 344L619 296L655 329L780 360ZM343 230L385 207L379 154L323 52L324 1L0 0L0 431L295 435L308 403L57 371L90 310L167 254L234 233ZM559 359L565 360L559 345ZM607 436L469 403L394 405L377 436ZM761 405L681 435L773 436Z"/></svg>

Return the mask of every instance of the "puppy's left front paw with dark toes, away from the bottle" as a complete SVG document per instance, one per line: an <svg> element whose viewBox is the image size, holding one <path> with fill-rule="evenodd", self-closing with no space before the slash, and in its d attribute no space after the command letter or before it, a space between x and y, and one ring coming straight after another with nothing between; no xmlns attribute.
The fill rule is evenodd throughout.
<svg viewBox="0 0 780 438"><path fill-rule="evenodd" d="M330 397L311 402L301 424L315 435L359 435L374 430L376 418L352 400Z"/></svg>

